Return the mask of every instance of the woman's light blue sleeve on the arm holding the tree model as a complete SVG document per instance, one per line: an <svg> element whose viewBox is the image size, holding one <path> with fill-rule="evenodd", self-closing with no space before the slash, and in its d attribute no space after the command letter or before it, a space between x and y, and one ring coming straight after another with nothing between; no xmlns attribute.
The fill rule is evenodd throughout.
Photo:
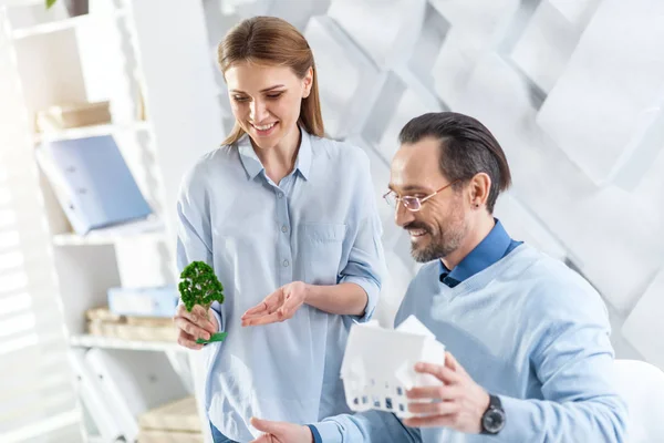
<svg viewBox="0 0 664 443"><path fill-rule="evenodd" d="M191 171L180 184L177 202L177 247L178 272L191 261L205 261L214 268L212 236L210 228L209 196L199 174ZM220 332L225 330L219 303L211 306Z"/></svg>

